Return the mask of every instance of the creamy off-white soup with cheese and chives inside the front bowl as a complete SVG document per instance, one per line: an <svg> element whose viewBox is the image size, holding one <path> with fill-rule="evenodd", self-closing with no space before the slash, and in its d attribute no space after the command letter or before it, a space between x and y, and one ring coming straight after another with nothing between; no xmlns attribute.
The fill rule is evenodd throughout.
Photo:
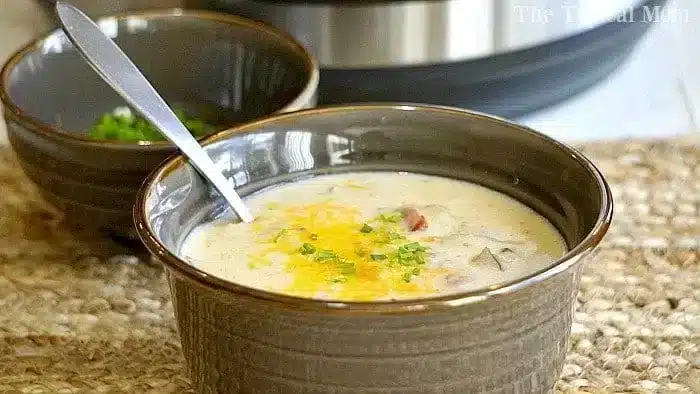
<svg viewBox="0 0 700 394"><path fill-rule="evenodd" d="M253 223L197 228L182 255L211 275L299 297L445 295L517 279L566 253L559 232L524 204L436 176L323 175L246 204Z"/></svg>

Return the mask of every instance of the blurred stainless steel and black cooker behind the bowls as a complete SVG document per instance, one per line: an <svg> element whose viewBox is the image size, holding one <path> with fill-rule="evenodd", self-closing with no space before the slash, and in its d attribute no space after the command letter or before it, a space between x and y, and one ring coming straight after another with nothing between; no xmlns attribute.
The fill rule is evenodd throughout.
<svg viewBox="0 0 700 394"><path fill-rule="evenodd" d="M517 117L615 70L666 0L201 0L319 60L319 103L411 101Z"/></svg>

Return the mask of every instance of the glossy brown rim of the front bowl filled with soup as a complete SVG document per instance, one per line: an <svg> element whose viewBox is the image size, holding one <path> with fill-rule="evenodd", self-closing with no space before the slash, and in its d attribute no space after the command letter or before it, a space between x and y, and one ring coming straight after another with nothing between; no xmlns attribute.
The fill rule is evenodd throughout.
<svg viewBox="0 0 700 394"><path fill-rule="evenodd" d="M399 301L372 301L372 302L343 302L343 301L328 301L320 299L301 298L289 296L279 293L272 293L264 290L258 290L247 286L239 285L225 279L220 279L211 274L188 264L174 253L171 253L168 248L156 237L148 220L146 218L146 201L151 190L154 189L157 183L165 178L170 172L184 165L185 159L182 155L172 156L167 161L163 162L156 170L154 170L143 182L137 193L136 204L134 205L134 223L136 232L141 238L146 248L159 259L167 269L176 272L176 275L184 275L186 278L198 282L208 288L223 291L233 294L236 297L247 297L261 303L277 304L286 309L307 310L324 313L341 313L341 314L411 314L421 313L426 311L451 309L475 302L481 302L488 298L511 294L515 291L524 289L536 283L540 283L550 277L553 277L561 272L564 272L576 265L583 257L591 253L600 244L612 222L613 216L613 197L610 187L603 177L600 170L582 153L567 144L550 138L540 132L530 129L526 126L511 122L509 120L484 114L477 111L466 109L446 107L431 104L414 104L414 103L361 103L361 104L341 104L316 107L312 109L273 115L267 118L261 118L255 122L246 123L238 127L228 130L223 130L212 134L203 141L203 146L213 144L217 141L225 140L238 134L254 134L261 130L264 126L270 124L284 124L293 121L296 118L314 116L317 114L327 113L343 113L355 111L374 111L374 110L390 110L390 111L421 111L424 113L447 113L457 116L473 117L489 122L498 122L519 129L521 132L528 133L533 138L544 140L550 145L564 150L573 160L582 165L593 177L599 188L599 197L601 199L601 209L596 218L593 229L586 234L584 239L575 247L550 266L538 270L529 275L518 279L493 285L481 289L459 292L455 294L442 295L429 298L409 299Z"/></svg>

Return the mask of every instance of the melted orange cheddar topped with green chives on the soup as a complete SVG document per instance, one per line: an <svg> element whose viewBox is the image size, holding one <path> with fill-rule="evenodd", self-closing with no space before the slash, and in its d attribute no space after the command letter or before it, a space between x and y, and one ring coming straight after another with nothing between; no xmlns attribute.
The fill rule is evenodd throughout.
<svg viewBox="0 0 700 394"><path fill-rule="evenodd" d="M293 277L286 289L291 295L373 300L394 292L434 291L429 279L439 272L425 267L427 248L406 239L400 214L389 212L368 223L357 209L330 200L284 208L270 204L266 213L251 227L264 245L262 253L249 254L251 267L284 256ZM272 236L265 232L271 224L277 227Z"/></svg>

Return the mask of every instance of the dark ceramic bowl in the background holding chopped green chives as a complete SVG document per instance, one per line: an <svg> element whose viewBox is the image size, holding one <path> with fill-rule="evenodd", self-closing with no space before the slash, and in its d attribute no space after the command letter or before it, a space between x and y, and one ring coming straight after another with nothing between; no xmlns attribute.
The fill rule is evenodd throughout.
<svg viewBox="0 0 700 394"><path fill-rule="evenodd" d="M316 103L315 60L264 24L178 9L112 15L97 23L169 104L223 128ZM73 224L135 236L136 192L176 150L169 142L87 137L96 119L125 102L62 31L7 61L0 99L10 143L44 197Z"/></svg>

